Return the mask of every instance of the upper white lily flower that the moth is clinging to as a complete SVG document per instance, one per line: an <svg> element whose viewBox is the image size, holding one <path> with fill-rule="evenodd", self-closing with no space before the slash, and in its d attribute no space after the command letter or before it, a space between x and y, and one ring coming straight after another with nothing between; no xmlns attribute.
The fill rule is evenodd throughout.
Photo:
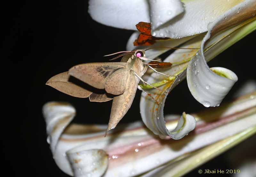
<svg viewBox="0 0 256 177"><path fill-rule="evenodd" d="M103 5L100 5L99 2L101 1L91 0L89 2L89 13L91 14L93 19L102 23L100 19L98 19L98 17L100 17L99 11L101 8L103 8ZM145 4L144 2L143 4L143 2L144 1L139 1L137 2L137 4L133 1L125 2L125 7L120 7L120 9L129 9L129 7L131 7L131 9L129 9L131 10L130 13L132 14L130 21L134 20L133 23L138 22L138 20L148 21L148 18L145 18L147 17L145 16L145 14L139 16L140 13L138 13L139 15L136 16L138 6L142 8L144 8L144 6L147 6L147 3ZM115 3L115 1L110 1L110 3L103 4L105 8L108 7L108 5L111 6L109 7L111 9L116 8ZM151 35L156 37L169 37L175 39L171 41L158 41L153 44L152 47L175 47L188 41L181 47L197 48L200 46L200 49L197 53L196 50L176 50L173 54L171 54L167 59L164 60L165 62L177 63L176 65L173 65L170 69L164 69L163 71L163 73L165 74L179 75L179 78L176 78L175 81L174 77L166 79L166 76L157 76L157 74L154 73L151 75L148 82L157 82L157 84L154 86L160 86L159 88L161 89L167 89L168 91L171 91L180 81L185 79L187 76L190 92L198 102L203 104L205 107L219 106L222 99L228 94L229 90L232 88L238 78L235 73L226 68L209 68L206 64L206 61L211 60L214 56L225 50L228 46L231 46L233 43L235 43L235 41L243 38L243 36L255 30L256 22L254 13L256 11L256 2L249 0L236 2L218 1L218 3L213 3L212 1L184 1L183 6L180 6L180 1L172 1L172 3L176 4L175 10L170 9L172 3L169 3L169 1L148 1L149 8L147 7L146 9L149 9L149 11L145 12L147 12L148 16L150 17ZM129 6L129 4L131 6ZM199 10L198 7L196 7L196 4L197 6L198 4L200 4ZM104 18L107 17L109 19L112 19L113 21L115 21L115 23L117 22L119 25L124 24L126 21L118 21L117 17L126 17L126 13L124 13L125 9L122 9L122 13L117 13L118 15L114 12L108 13ZM172 15L167 12L170 12ZM241 24L241 22L244 23ZM104 24L106 23L108 22L104 21ZM116 25L115 23L109 22L107 25L121 27L119 25ZM126 28L128 27L126 26ZM133 28L131 27L128 29ZM194 37L191 35L199 34L206 31L208 31L207 34L203 33L201 35L197 35L193 40L191 40ZM173 35L173 33L175 32L177 32L176 35ZM138 32L135 32L131 36L127 43L127 50L132 50L134 48L143 50L146 49L145 46L133 46L133 41L138 37L138 34ZM156 48L148 50L146 52L146 56L153 59L167 50L170 49ZM192 56L194 57L191 60ZM188 64L189 60L191 61ZM186 68L187 66L188 72ZM151 88L149 86L143 87L143 85L141 87ZM172 138L174 138L172 132L176 132L179 129L182 129L183 127L181 127L181 125L183 123L180 122L181 125L178 125L177 128L171 132L169 132L169 130L166 128L164 124L163 108L166 96L168 94L156 89L151 89L150 91L148 91L148 93L151 95L156 95L159 103L161 104L157 104L156 102L152 101L151 98L147 96L147 94L142 93L140 110L143 122L151 131L159 135L161 138L165 138L165 136L171 136ZM164 97L160 97L163 94ZM195 119L187 121L187 126L190 127L188 129L193 129L194 125ZM183 133L179 137L175 136L175 139L180 139L184 137L188 133L187 131L185 132L186 133Z"/></svg>

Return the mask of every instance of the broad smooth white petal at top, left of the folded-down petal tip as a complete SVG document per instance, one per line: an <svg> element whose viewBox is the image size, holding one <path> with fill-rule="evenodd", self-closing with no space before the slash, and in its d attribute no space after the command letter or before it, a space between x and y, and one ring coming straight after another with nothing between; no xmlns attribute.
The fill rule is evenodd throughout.
<svg viewBox="0 0 256 177"><path fill-rule="evenodd" d="M90 0L88 12L95 21L128 30L139 22L149 22L147 0Z"/></svg>

